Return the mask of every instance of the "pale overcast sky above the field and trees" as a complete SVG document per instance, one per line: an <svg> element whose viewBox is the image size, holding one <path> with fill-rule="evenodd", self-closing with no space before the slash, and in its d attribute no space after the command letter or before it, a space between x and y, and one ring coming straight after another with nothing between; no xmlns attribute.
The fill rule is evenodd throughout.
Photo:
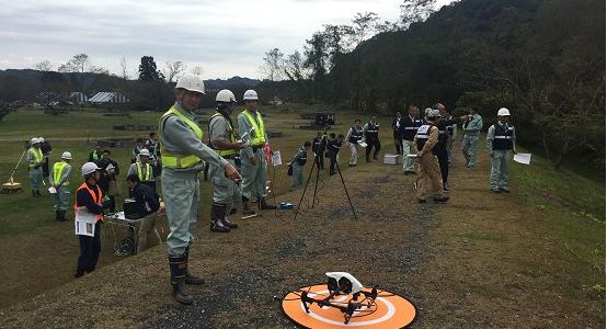
<svg viewBox="0 0 607 329"><path fill-rule="evenodd" d="M135 77L141 56L202 66L204 79L261 78L264 53L302 50L322 24L348 24L357 12L396 21L399 0L0 0L0 69L55 69L73 55ZM446 3L449 1L442 1Z"/></svg>

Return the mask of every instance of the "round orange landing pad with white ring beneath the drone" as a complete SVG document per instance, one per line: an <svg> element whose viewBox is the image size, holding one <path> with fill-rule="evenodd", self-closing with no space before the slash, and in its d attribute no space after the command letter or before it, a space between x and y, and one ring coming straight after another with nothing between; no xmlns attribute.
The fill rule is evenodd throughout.
<svg viewBox="0 0 607 329"><path fill-rule="evenodd" d="M337 308L308 304L310 313L306 313L301 303L301 291L308 292L308 296L314 299L322 299L329 296L327 284L306 286L298 291L288 293L283 299L283 313L295 324L304 328L405 328L411 325L417 311L413 303L406 298L383 290L378 290L377 298L370 307L363 307L354 313L347 324L344 324L344 315ZM370 292L370 288L364 288ZM337 296L331 302L340 305L347 305L352 295Z"/></svg>

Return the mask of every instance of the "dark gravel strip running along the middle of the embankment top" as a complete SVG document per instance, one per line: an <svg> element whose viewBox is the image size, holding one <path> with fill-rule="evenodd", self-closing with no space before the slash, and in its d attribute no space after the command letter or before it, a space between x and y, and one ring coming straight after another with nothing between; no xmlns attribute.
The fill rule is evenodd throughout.
<svg viewBox="0 0 607 329"><path fill-rule="evenodd" d="M341 181L319 186L314 208L309 207L310 184L297 223L287 213L278 219L277 228L257 231L273 237L268 247L260 249L262 254L239 260L233 274L220 283L193 287L194 305L168 305L151 315L144 327L290 328L294 325L273 297L324 282L323 272L337 270L350 271L368 286L379 284L416 302L408 277L420 273L428 256L434 206L411 203L397 207L385 198L391 195L393 185L387 182L393 178L386 172L364 177L348 185L357 220L353 220ZM264 216L259 220L275 219ZM274 230L280 227L288 229L276 235Z"/></svg>

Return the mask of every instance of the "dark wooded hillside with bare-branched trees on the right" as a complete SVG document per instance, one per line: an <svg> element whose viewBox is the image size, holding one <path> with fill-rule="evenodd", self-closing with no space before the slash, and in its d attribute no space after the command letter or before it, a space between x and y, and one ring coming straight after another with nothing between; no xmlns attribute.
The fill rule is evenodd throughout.
<svg viewBox="0 0 607 329"><path fill-rule="evenodd" d="M262 88L285 100L389 114L437 101L514 113L522 143L559 168L605 168L605 1L462 0L433 12L404 1L399 22L357 14L323 25L304 52L264 58ZM485 128L489 125L485 125Z"/></svg>

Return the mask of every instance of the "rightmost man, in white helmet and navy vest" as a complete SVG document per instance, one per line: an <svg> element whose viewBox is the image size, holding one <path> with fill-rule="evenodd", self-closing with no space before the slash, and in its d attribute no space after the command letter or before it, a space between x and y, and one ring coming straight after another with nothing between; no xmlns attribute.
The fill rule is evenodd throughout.
<svg viewBox="0 0 607 329"><path fill-rule="evenodd" d="M486 147L491 157L491 192L509 193L508 189L508 150L516 155L516 134L508 123L511 113L502 107L497 111L497 123L486 132Z"/></svg>

